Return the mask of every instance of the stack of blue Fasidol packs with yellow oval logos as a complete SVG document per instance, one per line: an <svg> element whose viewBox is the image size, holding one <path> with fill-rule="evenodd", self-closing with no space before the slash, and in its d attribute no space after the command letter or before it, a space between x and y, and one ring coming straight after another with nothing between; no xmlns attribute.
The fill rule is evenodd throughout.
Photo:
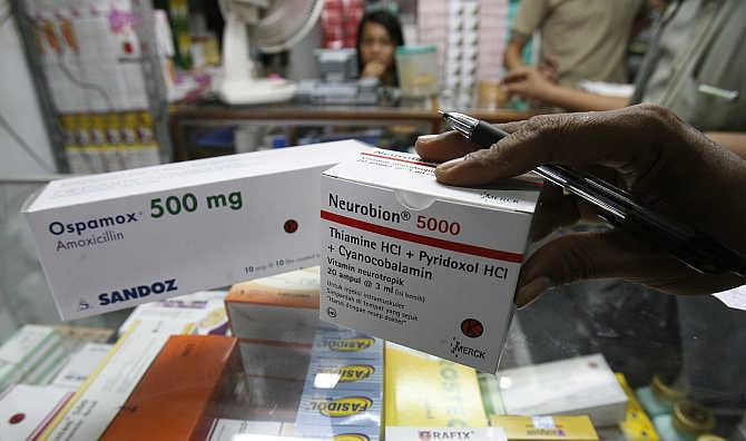
<svg viewBox="0 0 746 441"><path fill-rule="evenodd" d="M354 331L320 330L294 433L377 441L383 409L383 342Z"/></svg>

